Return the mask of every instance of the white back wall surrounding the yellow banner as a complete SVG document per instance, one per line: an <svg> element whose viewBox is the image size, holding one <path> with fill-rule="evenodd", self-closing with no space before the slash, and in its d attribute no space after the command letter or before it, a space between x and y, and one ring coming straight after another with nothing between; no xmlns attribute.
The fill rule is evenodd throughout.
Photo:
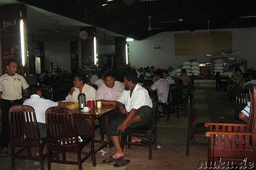
<svg viewBox="0 0 256 170"><path fill-rule="evenodd" d="M154 30L153 30L154 31ZM196 30L194 32L206 32ZM256 28L218 29L212 31L232 31L232 49L239 51L239 59L248 61L248 68L256 69L255 42ZM131 67L155 66L155 68L168 68L179 66L184 61L196 59L199 63L206 62L206 55L175 56L175 33L190 33L190 31L161 32L140 41L131 41L130 60ZM159 47L160 49L154 47ZM163 48L164 47L164 48Z"/></svg>

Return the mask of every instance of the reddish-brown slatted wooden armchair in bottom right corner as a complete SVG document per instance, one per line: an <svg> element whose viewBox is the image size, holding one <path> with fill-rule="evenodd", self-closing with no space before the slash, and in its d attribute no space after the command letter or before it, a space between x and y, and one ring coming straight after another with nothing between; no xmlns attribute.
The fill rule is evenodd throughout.
<svg viewBox="0 0 256 170"><path fill-rule="evenodd" d="M256 162L256 85L250 87L251 109L247 124L232 123L205 123L205 127L210 127L206 132L209 137L208 146L208 169L212 170L214 163L231 163L232 158L241 158L241 161L232 160L233 164L245 164ZM215 131L213 131L215 126ZM246 131L245 131L246 128ZM221 157L220 159L215 159ZM228 160L223 160L228 158ZM212 163L212 164L210 164ZM210 165L209 165L210 164ZM253 168L252 168L253 169ZM255 166L254 166L255 169Z"/></svg>

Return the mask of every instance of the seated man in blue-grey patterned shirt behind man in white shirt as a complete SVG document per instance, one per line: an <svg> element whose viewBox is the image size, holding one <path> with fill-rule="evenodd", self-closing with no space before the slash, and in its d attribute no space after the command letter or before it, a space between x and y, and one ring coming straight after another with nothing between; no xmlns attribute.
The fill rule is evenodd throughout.
<svg viewBox="0 0 256 170"><path fill-rule="evenodd" d="M168 93L169 93L169 82L163 78L163 72L157 70L155 74L155 83L148 89L148 91L157 89L158 102L167 103ZM159 107L159 112L163 111L163 107ZM163 113L160 113L161 117L164 117Z"/></svg>

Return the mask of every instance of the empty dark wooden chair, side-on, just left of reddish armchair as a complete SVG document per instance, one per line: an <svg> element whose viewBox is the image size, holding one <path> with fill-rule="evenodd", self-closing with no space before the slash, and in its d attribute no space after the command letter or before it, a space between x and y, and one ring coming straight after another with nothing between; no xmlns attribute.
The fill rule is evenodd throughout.
<svg viewBox="0 0 256 170"><path fill-rule="evenodd" d="M190 145L208 145L208 142L196 142L196 137L205 137L209 128L204 126L205 122L196 122L196 110L193 95L188 97L188 137L186 156L189 156ZM192 141L191 141L192 140Z"/></svg>

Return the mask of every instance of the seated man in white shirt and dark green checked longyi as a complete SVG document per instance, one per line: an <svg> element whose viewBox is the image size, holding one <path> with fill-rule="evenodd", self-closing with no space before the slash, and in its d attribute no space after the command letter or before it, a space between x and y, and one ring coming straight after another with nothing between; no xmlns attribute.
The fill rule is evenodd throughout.
<svg viewBox="0 0 256 170"><path fill-rule="evenodd" d="M130 163L130 160L122 159L124 152L121 149L119 135L127 127L147 126L151 117L152 106L148 91L138 84L137 77L134 74L125 76L124 91L116 101L116 107L121 110L123 115L110 121L107 128L107 135L110 136L115 145L116 152L109 159L104 160L104 163L108 161L116 162L116 159L118 159L116 166ZM140 138L138 139L140 140ZM136 142L138 139L132 138L132 142Z"/></svg>

